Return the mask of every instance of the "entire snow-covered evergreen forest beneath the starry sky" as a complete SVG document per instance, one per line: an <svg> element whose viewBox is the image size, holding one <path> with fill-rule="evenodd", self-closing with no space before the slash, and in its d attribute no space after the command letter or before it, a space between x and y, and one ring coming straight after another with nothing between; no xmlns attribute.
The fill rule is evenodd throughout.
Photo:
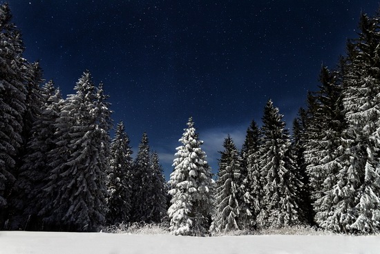
<svg viewBox="0 0 380 254"><path fill-rule="evenodd" d="M336 67L321 67L292 131L272 100L241 149L230 136L217 176L193 118L169 182L146 133L133 158L124 123L110 136L103 84L84 71L64 98L0 6L0 229L99 231L146 223L174 235L310 226L380 231L380 14L361 14Z"/></svg>

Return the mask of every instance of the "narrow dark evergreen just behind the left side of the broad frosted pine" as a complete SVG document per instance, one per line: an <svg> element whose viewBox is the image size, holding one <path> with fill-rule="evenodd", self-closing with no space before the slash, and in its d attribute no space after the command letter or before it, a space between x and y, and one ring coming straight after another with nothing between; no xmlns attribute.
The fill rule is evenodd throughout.
<svg viewBox="0 0 380 254"><path fill-rule="evenodd" d="M61 94L55 89L53 81L49 81L41 89L41 113L35 120L26 145L26 153L22 158L23 165L19 169L19 176L13 189L12 229L40 230L41 223L36 215L41 209L44 200L37 195L41 192L50 172L47 154L55 148L53 136L55 134L55 120L59 116L59 100ZM17 217L18 216L18 217Z"/></svg>

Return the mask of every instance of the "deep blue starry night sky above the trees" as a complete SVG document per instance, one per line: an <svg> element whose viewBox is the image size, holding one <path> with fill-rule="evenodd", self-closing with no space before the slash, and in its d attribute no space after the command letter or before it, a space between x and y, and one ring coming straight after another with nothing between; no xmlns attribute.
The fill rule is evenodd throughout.
<svg viewBox="0 0 380 254"><path fill-rule="evenodd" d="M213 173L227 134L241 146L269 98L287 127L379 0L8 0L24 57L62 94L84 70L104 83L134 154L147 132L164 173L193 116Z"/></svg>

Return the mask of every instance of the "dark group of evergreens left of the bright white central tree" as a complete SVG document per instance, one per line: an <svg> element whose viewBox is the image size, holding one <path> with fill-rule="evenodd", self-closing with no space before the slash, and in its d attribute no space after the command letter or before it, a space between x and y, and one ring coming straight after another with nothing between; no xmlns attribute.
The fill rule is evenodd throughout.
<svg viewBox="0 0 380 254"><path fill-rule="evenodd" d="M146 133L135 159L123 123L111 140L103 85L86 71L62 98L23 59L8 5L0 6L0 229L96 231L161 222L167 183Z"/></svg>

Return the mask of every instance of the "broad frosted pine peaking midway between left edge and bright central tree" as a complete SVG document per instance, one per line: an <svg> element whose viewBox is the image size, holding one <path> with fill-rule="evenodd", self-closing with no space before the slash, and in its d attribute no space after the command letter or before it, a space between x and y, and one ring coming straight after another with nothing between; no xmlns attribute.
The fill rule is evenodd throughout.
<svg viewBox="0 0 380 254"><path fill-rule="evenodd" d="M53 229L94 231L106 215L109 119L102 93L95 93L89 72L84 72L61 107L55 143L48 158L50 171L44 197L50 204L39 215ZM107 112L108 114L104 114Z"/></svg>

